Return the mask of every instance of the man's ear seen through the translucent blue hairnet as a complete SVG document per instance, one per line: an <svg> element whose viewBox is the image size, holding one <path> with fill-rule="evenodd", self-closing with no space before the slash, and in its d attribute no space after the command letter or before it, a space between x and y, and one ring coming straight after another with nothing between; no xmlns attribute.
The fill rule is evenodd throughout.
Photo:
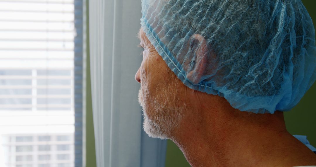
<svg viewBox="0 0 316 167"><path fill-rule="evenodd" d="M201 82L206 67L208 47L206 40L200 34L193 34L188 45L189 51L183 64L184 69L191 83L198 84Z"/></svg>

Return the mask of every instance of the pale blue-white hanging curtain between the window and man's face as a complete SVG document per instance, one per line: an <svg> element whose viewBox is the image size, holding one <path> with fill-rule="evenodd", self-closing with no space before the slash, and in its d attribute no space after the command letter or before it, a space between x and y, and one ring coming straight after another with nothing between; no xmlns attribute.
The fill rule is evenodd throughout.
<svg viewBox="0 0 316 167"><path fill-rule="evenodd" d="M164 166L166 140L142 130L134 80L141 1L90 0L90 68L98 167Z"/></svg>

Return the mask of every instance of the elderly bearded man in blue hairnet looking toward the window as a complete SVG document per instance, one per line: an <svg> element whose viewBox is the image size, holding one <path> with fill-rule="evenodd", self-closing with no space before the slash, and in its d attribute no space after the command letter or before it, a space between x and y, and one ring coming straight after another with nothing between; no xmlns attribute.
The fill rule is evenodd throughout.
<svg viewBox="0 0 316 167"><path fill-rule="evenodd" d="M316 165L282 112L316 78L300 0L142 0L142 13L135 79L149 136L173 140L191 166Z"/></svg>

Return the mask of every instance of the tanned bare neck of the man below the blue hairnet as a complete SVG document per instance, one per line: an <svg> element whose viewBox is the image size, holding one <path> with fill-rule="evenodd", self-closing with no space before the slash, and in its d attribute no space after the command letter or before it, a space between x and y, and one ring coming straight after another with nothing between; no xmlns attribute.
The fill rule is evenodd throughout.
<svg viewBox="0 0 316 167"><path fill-rule="evenodd" d="M316 155L286 131L281 112L187 113L171 139L193 167L316 164Z"/></svg>

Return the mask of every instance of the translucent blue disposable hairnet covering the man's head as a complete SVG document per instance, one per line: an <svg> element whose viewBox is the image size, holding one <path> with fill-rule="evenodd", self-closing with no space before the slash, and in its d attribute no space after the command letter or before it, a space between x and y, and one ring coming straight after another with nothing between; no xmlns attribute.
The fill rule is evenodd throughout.
<svg viewBox="0 0 316 167"><path fill-rule="evenodd" d="M142 0L141 25L189 88L254 113L293 108L316 79L301 0Z"/></svg>

